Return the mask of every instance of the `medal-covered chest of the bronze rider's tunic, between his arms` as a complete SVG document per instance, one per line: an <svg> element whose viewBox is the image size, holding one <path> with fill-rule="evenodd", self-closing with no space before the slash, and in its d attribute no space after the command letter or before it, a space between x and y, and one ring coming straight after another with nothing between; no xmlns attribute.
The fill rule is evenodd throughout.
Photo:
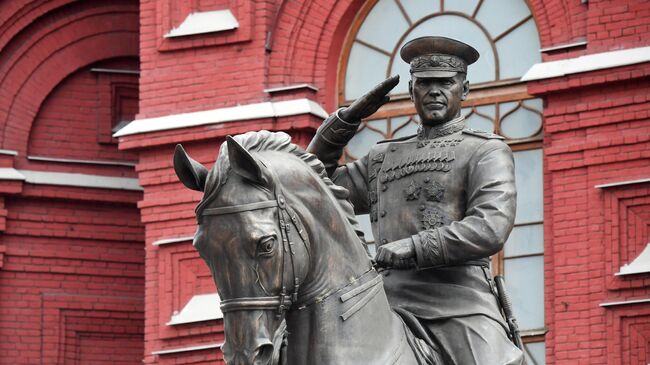
<svg viewBox="0 0 650 365"><path fill-rule="evenodd" d="M380 245L463 218L462 138L424 142L387 143L369 156L370 221Z"/></svg>

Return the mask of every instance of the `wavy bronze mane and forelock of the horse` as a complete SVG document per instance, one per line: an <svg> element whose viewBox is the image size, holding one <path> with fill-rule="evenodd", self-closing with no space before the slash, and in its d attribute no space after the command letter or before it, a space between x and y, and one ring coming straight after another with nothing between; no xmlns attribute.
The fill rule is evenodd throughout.
<svg viewBox="0 0 650 365"><path fill-rule="evenodd" d="M338 186L327 176L327 171L323 163L313 154L303 150L300 146L291 143L291 137L284 132L269 132L266 130L257 132L247 132L233 137L240 145L249 152L278 151L290 153L305 162L329 188L336 202L345 214L345 218L352 225L361 243L366 247L366 240L359 222L354 214L354 207L348 199L350 193L342 186ZM219 149L219 157L214 166L208 173L205 182L203 198L196 207L197 217L207 204L216 199L221 187L227 182L230 175L230 159L228 158L228 146L226 143Z"/></svg>

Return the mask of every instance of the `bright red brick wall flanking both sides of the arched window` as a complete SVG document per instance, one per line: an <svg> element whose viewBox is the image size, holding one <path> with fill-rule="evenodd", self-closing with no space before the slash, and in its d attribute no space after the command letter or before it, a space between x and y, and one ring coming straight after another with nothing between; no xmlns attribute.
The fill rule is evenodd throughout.
<svg viewBox="0 0 650 365"><path fill-rule="evenodd" d="M227 3L227 4L226 4ZM308 97L332 111L341 44L362 1L141 2L143 73L139 118L237 104ZM252 4L252 5L251 5ZM648 45L648 2L531 0L545 61ZM226 6L240 28L212 36L163 39L188 9ZM586 42L586 44L584 44ZM646 185L596 189L594 185L648 177L648 65L633 65L534 82L545 99L546 321L549 364L637 363L647 348L643 305L601 303L647 297L647 276L614 273L647 241ZM313 84L319 90L270 95L264 88ZM120 148L139 154L145 188L139 206L146 230L146 363L201 363L213 349L175 355L151 352L220 341L219 321L167 326L188 298L211 292L207 269L189 242L154 246L159 239L191 236L199 193L176 182L173 144L211 165L226 134L248 129L289 130L308 140L314 117L233 122L128 136ZM630 228L626 217L634 215ZM623 217L623 218L621 218ZM625 229L621 228L625 226ZM640 228L639 228L640 227ZM632 232L632 233L630 233ZM645 241L644 241L645 240ZM645 286L644 286L645 285ZM645 342L644 342L645 341Z"/></svg>

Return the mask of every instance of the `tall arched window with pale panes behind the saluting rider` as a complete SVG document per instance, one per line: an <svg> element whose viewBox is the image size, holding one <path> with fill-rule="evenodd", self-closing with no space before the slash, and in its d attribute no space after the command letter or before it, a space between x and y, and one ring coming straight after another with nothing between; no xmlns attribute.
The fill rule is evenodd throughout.
<svg viewBox="0 0 650 365"><path fill-rule="evenodd" d="M408 96L409 66L399 58L399 50L426 35L461 40L481 54L469 67L471 91L462 113L470 127L506 137L515 155L518 189L516 227L504 251L493 258L493 270L506 276L528 363L543 364L542 101L529 96L520 81L541 57L526 1L367 1L343 47L338 104L349 105L391 75L399 74L401 80L391 102L363 121L344 159L365 155L377 141L415 133L418 117ZM369 228L366 231L372 235Z"/></svg>

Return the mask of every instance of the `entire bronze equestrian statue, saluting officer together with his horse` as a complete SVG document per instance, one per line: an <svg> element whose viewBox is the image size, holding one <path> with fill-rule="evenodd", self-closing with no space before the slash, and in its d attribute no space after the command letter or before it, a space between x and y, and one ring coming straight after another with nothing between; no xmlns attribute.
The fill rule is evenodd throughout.
<svg viewBox="0 0 650 365"><path fill-rule="evenodd" d="M478 53L424 37L401 55L422 125L356 162L338 166L397 77L328 118L313 154L249 132L208 171L177 146L178 177L204 192L194 246L222 299L228 364L523 363L489 269L515 216L512 153L460 115ZM355 213L370 214L382 274Z"/></svg>

